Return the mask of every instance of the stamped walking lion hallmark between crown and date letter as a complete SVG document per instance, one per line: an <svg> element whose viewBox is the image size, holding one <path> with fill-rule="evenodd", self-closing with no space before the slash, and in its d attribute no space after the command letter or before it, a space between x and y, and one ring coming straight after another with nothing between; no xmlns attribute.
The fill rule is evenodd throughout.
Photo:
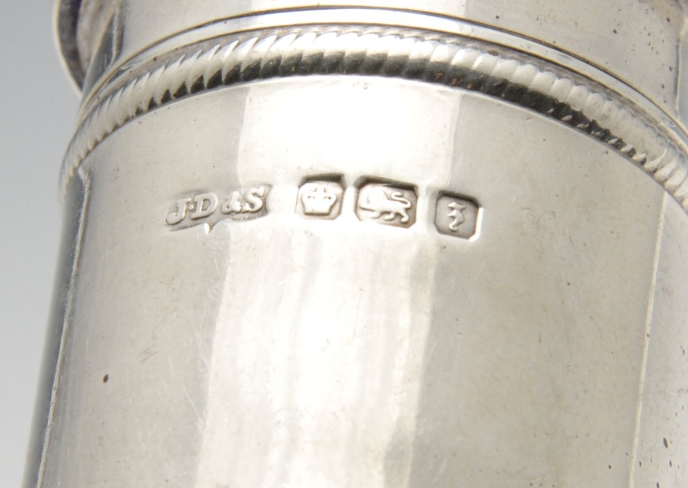
<svg viewBox="0 0 688 488"><path fill-rule="evenodd" d="M358 191L356 215L386 225L409 228L416 222L418 197L410 187L369 183Z"/></svg>

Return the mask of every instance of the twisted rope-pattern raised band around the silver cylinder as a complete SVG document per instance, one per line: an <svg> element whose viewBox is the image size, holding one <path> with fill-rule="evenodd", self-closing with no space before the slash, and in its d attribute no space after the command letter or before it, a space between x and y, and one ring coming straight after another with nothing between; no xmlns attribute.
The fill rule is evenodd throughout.
<svg viewBox="0 0 688 488"><path fill-rule="evenodd" d="M685 142L641 107L629 108L630 100L618 93L501 46L406 28L342 25L231 34L138 64L86 108L65 155L63 187L100 142L143 113L216 87L309 74L419 80L531 109L608 144L688 211Z"/></svg>

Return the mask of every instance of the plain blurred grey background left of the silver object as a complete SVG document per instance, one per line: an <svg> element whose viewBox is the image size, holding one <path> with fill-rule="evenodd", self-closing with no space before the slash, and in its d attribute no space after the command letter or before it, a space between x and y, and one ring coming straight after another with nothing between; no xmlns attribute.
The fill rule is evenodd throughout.
<svg viewBox="0 0 688 488"><path fill-rule="evenodd" d="M52 0L0 3L0 486L21 485L61 230L58 175L78 95Z"/></svg>

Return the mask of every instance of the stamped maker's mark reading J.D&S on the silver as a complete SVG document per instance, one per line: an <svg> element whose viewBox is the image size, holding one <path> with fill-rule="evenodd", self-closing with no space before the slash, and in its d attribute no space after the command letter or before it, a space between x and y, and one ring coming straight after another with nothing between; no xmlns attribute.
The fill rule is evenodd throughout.
<svg viewBox="0 0 688 488"><path fill-rule="evenodd" d="M260 185L228 194L205 192L182 197L175 201L165 222L175 230L199 224L208 224L212 229L226 219L244 221L264 217L268 214L269 191L270 185Z"/></svg>

